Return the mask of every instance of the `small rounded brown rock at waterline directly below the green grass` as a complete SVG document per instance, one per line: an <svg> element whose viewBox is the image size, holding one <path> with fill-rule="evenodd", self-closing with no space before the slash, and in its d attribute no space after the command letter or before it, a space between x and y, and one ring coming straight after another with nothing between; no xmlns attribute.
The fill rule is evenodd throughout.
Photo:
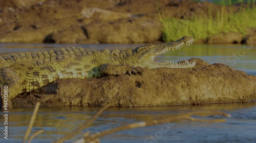
<svg viewBox="0 0 256 143"><path fill-rule="evenodd" d="M220 33L207 38L208 44L237 44L243 40L243 34L236 32Z"/></svg>

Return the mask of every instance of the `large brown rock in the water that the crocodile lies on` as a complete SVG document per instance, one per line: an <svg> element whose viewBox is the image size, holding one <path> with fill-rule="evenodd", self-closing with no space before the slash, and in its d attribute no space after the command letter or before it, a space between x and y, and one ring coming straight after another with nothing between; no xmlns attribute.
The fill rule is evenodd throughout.
<svg viewBox="0 0 256 143"><path fill-rule="evenodd" d="M193 69L147 69L141 76L123 74L92 79L62 79L12 99L14 106L163 106L246 102L256 99L256 78L223 64ZM205 65L204 65L205 64ZM203 67L203 68L202 68Z"/></svg>

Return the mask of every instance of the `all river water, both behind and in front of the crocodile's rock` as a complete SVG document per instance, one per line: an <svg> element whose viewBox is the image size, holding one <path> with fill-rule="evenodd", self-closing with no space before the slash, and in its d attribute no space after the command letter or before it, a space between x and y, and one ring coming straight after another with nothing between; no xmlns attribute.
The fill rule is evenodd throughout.
<svg viewBox="0 0 256 143"><path fill-rule="evenodd" d="M0 54L18 51L31 51L55 47L67 47L61 44L0 44ZM139 45L75 45L93 49L132 49ZM175 52L157 56L155 61L181 61L189 58L201 58L204 61L223 63L234 69L256 75L256 47L242 45L193 45ZM37 135L32 142L51 142L69 134L95 115L100 107L61 107L39 108L32 133L40 129L45 131ZM91 133L140 121L164 118L175 113L190 111L220 110L232 117L225 123L201 123L179 121L164 125L125 130L100 138L101 142L256 142L256 103L211 104L200 106L161 106L161 107L111 107L104 111L94 124L84 130ZM9 110L8 138L4 139L4 117L0 117L0 142L22 142L33 108L14 108ZM199 118L199 117L198 117ZM201 119L220 119L220 116L207 116ZM164 127L163 127L164 126ZM167 127L168 126L168 127ZM165 128L166 127L166 128ZM165 128L165 130L163 130ZM75 138L81 137L77 135ZM75 138L69 140L74 141Z"/></svg>

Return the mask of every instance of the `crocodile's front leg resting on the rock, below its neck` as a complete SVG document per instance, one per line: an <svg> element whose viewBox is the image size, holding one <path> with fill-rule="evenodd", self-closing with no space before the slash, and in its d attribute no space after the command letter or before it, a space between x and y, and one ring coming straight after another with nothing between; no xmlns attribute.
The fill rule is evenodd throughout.
<svg viewBox="0 0 256 143"><path fill-rule="evenodd" d="M128 65L113 65L113 64L104 64L100 67L100 73L103 76L109 75L120 75L127 73L129 75L132 74L142 74L144 71L141 67L132 67Z"/></svg>

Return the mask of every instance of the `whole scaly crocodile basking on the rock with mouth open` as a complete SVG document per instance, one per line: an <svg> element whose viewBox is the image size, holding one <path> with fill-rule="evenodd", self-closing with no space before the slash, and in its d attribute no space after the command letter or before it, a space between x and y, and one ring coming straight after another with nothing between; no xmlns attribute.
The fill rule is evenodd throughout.
<svg viewBox="0 0 256 143"><path fill-rule="evenodd" d="M184 63L155 62L157 55L190 45L194 38L137 47L133 50L93 50L81 47L17 52L0 56L0 87L8 87L8 99L30 93L57 79L92 78L120 74L142 74L144 68L191 68ZM3 98L3 97L2 97Z"/></svg>

